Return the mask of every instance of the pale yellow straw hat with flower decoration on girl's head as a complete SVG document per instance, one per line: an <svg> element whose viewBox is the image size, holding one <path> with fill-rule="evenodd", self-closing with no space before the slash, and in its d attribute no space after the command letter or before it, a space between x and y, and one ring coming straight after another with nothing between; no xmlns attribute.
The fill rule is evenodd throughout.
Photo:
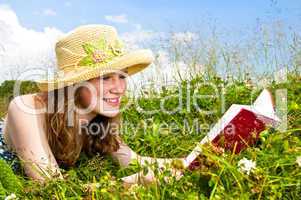
<svg viewBox="0 0 301 200"><path fill-rule="evenodd" d="M135 74L153 62L149 49L127 52L114 27L83 25L55 45L57 72L52 79L35 81L41 91L50 91L89 80L116 70Z"/></svg>

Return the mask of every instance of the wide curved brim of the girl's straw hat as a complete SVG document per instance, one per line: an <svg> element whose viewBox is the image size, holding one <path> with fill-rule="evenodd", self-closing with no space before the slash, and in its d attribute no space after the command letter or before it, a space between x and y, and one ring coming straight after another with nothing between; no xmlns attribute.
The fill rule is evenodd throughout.
<svg viewBox="0 0 301 200"><path fill-rule="evenodd" d="M74 67L74 70L64 72L61 78L36 80L35 82L40 91L51 91L124 69L127 69L128 75L133 75L148 67L153 60L154 56L151 50L140 49L116 57L97 67Z"/></svg>

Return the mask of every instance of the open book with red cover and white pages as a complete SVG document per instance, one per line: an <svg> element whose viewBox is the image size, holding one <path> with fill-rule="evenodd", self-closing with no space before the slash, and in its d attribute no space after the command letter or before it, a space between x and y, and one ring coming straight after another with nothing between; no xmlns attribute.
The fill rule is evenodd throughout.
<svg viewBox="0 0 301 200"><path fill-rule="evenodd" d="M197 157L201 153L201 146L207 142L239 153L242 149L254 144L259 133L267 125L275 126L278 122L280 119L275 114L271 93L264 89L253 105L231 105L186 157L184 166L191 170L198 166Z"/></svg>

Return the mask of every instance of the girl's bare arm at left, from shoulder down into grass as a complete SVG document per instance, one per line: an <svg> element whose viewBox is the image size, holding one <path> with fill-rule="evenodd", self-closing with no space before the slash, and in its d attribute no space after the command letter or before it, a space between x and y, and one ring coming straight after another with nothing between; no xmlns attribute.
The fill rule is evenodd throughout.
<svg viewBox="0 0 301 200"><path fill-rule="evenodd" d="M62 178L42 127L43 114L26 112L27 106L33 109L30 105L34 105L33 100L26 95L14 98L9 104L7 128L13 149L30 178L41 182L52 176Z"/></svg>

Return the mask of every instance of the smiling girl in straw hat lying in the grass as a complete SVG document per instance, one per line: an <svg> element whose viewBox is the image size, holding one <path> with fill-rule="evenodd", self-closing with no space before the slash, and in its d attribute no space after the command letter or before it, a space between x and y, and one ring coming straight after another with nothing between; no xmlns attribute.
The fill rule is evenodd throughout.
<svg viewBox="0 0 301 200"><path fill-rule="evenodd" d="M150 50L126 52L115 28L85 25L61 38L55 51L54 79L37 81L39 93L16 96L9 104L0 134L3 159L17 155L25 173L41 182L63 178L59 167L74 166L82 151L112 155L122 167L133 159L160 167L173 161L140 156L118 135L126 77L152 63ZM136 183L141 174L123 181ZM143 181L153 180L150 170Z"/></svg>

